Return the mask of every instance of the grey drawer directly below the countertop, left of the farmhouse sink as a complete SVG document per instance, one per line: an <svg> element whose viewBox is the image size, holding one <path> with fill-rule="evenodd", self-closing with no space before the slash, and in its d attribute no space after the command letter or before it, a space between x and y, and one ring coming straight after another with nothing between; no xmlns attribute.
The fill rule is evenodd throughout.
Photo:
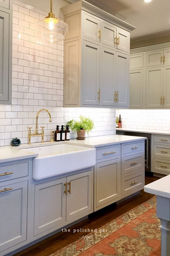
<svg viewBox="0 0 170 256"><path fill-rule="evenodd" d="M0 182L28 176L28 163L0 167Z"/></svg>

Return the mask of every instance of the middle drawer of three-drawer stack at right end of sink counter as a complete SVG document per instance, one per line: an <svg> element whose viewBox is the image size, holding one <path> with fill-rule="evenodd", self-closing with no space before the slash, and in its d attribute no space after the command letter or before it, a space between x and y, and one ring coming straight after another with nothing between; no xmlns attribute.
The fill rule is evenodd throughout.
<svg viewBox="0 0 170 256"><path fill-rule="evenodd" d="M123 157L123 174L144 168L144 154Z"/></svg>

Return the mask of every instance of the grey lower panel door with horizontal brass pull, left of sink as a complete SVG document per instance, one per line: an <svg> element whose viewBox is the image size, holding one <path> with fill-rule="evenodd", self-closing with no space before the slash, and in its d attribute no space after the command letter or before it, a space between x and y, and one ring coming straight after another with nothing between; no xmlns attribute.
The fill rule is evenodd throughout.
<svg viewBox="0 0 170 256"><path fill-rule="evenodd" d="M0 185L0 251L27 239L28 181L6 183Z"/></svg>

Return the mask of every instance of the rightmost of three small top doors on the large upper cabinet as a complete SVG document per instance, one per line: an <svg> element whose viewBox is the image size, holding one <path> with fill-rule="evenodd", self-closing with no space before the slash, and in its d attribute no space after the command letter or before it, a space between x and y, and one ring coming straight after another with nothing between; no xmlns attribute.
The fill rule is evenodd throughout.
<svg viewBox="0 0 170 256"><path fill-rule="evenodd" d="M117 49L130 52L130 33L117 27Z"/></svg>

